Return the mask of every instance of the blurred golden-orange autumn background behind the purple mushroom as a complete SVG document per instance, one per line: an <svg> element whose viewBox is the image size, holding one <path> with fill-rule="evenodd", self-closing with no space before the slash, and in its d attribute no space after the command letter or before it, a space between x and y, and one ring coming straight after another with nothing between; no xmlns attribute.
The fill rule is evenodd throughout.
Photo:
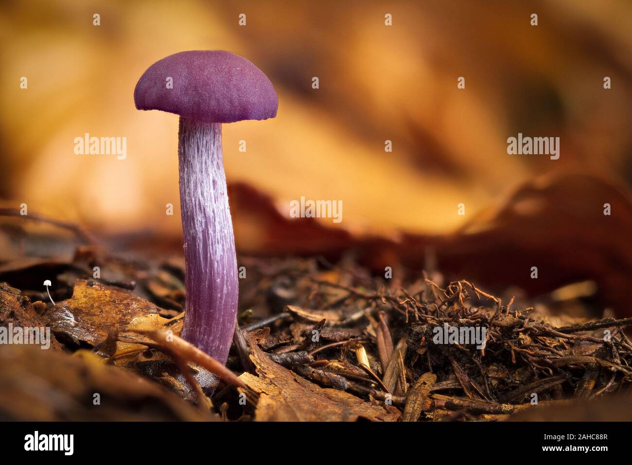
<svg viewBox="0 0 632 465"><path fill-rule="evenodd" d="M392 26L384 23L387 13ZM616 186L621 209L629 208L631 26L626 0L4 1L0 197L4 206L24 202L100 235L147 230L179 238L178 117L137 111L133 89L164 56L224 49L257 65L279 94L276 119L224 125L229 185L268 195L285 217L289 201L301 196L341 200L342 223L319 222L353 237L445 238L491 228L520 242L511 226L497 227L495 215L543 176L598 175L603 185L582 190L574 183L590 180L571 178L559 195L585 194L600 213L610 197L595 193ZM21 77L28 89L20 88ZM319 89L312 89L313 77ZM458 89L458 77L465 77L465 89ZM604 77L612 89L604 89ZM508 155L507 137L518 132L560 137L560 158ZM126 137L126 159L76 155L73 140L85 133ZM240 140L246 152L238 150ZM385 140L392 140L392 152L384 151ZM165 214L167 203L173 216ZM534 214L529 202L521 206ZM573 208L581 225L603 220L585 216L582 202ZM559 218L555 208L542 211ZM256 213L243 202L234 208L242 251L270 247L260 223L249 223ZM617 221L627 227L628 220ZM534 234L546 235L544 226ZM619 254L619 242L603 242L616 242L612 253ZM600 247L591 253L600 255ZM491 246L483 249L494 254ZM544 241L525 250L555 255L552 249ZM621 255L624 266L569 264L580 272L549 285L616 267L628 273L628 255ZM559 256L558 268L565 261Z"/></svg>

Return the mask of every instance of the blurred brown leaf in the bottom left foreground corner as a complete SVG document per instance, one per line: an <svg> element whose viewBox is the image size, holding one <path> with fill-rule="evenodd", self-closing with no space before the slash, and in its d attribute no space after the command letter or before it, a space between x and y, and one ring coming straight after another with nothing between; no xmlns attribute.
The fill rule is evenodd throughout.
<svg viewBox="0 0 632 465"><path fill-rule="evenodd" d="M0 418L20 421L203 421L203 413L143 376L27 345L0 347ZM100 404L95 405L99 394Z"/></svg>

